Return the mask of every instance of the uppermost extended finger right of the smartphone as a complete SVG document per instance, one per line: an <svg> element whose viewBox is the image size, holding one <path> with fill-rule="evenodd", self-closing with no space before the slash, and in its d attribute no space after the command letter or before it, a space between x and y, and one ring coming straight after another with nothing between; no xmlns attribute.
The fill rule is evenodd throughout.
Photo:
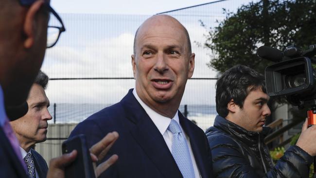
<svg viewBox="0 0 316 178"><path fill-rule="evenodd" d="M117 132L108 133L100 142L97 142L90 148L90 152L99 158L100 153L110 144L113 144L119 137ZM99 160L101 160L99 158Z"/></svg>

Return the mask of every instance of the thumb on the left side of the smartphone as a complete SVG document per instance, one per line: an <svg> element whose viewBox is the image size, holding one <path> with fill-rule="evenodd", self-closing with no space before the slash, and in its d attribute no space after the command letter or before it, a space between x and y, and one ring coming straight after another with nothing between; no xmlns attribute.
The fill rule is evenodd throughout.
<svg viewBox="0 0 316 178"><path fill-rule="evenodd" d="M64 154L60 157L54 158L50 161L50 167L64 169L69 165L77 156L77 150L72 150L68 154Z"/></svg>

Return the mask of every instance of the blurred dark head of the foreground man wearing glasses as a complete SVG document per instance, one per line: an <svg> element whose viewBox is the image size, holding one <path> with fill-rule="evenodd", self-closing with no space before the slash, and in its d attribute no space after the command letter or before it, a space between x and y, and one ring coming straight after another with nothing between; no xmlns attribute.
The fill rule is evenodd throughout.
<svg viewBox="0 0 316 178"><path fill-rule="evenodd" d="M13 121L28 110L26 98L48 46L49 16L57 14L47 0L0 0L0 4L0 86Z"/></svg>

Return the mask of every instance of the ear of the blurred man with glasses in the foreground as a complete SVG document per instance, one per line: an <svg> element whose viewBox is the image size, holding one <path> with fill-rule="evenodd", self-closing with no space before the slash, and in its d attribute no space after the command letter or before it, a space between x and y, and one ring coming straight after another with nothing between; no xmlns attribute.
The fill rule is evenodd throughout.
<svg viewBox="0 0 316 178"><path fill-rule="evenodd" d="M35 40L35 31L38 23L36 22L36 14L44 4L43 0L36 0L27 10L23 30L26 36L24 40L24 48L29 49L33 46Z"/></svg>

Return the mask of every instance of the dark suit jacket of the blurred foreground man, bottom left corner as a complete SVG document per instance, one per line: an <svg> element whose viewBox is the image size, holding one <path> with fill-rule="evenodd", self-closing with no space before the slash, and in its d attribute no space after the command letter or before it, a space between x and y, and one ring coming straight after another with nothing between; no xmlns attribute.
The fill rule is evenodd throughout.
<svg viewBox="0 0 316 178"><path fill-rule="evenodd" d="M0 126L0 177L27 178L26 171Z"/></svg>

